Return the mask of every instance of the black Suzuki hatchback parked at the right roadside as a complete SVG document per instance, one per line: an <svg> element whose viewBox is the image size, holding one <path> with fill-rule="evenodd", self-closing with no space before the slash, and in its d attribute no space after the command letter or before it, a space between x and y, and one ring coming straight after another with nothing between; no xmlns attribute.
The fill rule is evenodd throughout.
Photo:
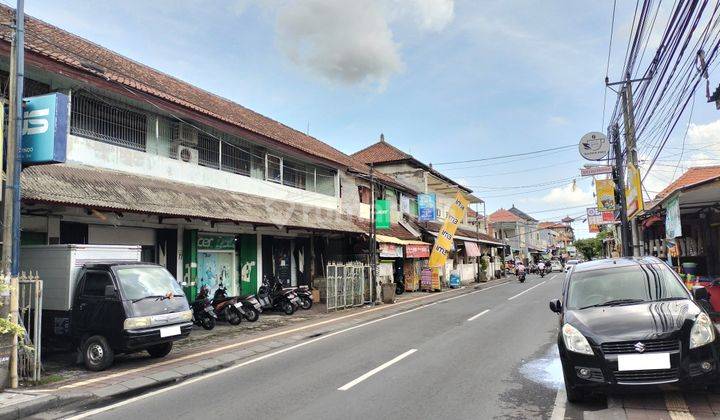
<svg viewBox="0 0 720 420"><path fill-rule="evenodd" d="M573 268L558 313L557 345L570 402L590 393L718 380L720 341L701 286L688 292L654 257L591 261Z"/></svg>

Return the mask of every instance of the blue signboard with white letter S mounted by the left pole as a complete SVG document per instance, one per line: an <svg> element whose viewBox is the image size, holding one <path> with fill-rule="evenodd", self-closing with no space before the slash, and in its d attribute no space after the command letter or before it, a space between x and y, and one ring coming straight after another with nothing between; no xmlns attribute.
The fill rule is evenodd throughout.
<svg viewBox="0 0 720 420"><path fill-rule="evenodd" d="M25 98L23 165L65 162L68 136L68 97L62 93Z"/></svg>

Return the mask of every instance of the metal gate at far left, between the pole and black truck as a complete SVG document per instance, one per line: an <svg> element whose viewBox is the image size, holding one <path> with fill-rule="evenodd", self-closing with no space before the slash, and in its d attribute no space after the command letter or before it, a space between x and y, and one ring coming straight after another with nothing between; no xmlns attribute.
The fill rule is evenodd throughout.
<svg viewBox="0 0 720 420"><path fill-rule="evenodd" d="M23 343L18 346L18 379L23 382L40 381L40 334L42 331L43 282L37 274L22 273L18 279L18 312L25 328Z"/></svg>

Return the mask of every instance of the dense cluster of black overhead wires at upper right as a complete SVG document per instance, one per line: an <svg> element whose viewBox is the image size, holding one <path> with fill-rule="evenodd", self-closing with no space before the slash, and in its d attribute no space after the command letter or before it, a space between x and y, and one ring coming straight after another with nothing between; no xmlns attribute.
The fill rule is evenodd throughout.
<svg viewBox="0 0 720 420"><path fill-rule="evenodd" d="M707 83L720 47L720 1L676 0L670 9L665 6L662 0L637 1L621 75L621 79L639 79L633 85L633 101L636 150L649 162L643 180L675 132L698 86L703 79ZM667 13L661 13L665 10ZM655 30L658 23L664 23L660 32ZM645 54L655 42L655 53L645 62ZM621 103L618 97L610 122L625 132ZM684 149L680 158L683 154Z"/></svg>

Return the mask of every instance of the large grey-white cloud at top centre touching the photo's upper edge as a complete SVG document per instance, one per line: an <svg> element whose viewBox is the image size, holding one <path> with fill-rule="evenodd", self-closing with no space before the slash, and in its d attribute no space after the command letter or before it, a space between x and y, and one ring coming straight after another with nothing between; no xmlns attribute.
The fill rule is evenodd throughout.
<svg viewBox="0 0 720 420"><path fill-rule="evenodd" d="M322 79L382 90L405 67L391 23L409 19L437 32L454 10L454 0L286 1L277 11L276 45Z"/></svg>

